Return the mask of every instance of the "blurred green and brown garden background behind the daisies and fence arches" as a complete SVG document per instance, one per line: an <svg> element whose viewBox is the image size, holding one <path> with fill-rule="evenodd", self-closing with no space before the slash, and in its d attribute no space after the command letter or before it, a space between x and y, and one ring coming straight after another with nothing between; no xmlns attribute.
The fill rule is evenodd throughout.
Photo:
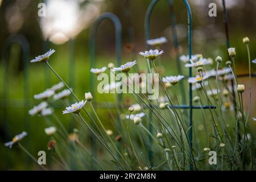
<svg viewBox="0 0 256 182"><path fill-rule="evenodd" d="M3 50L3 43L6 38L12 34L24 35L30 46L30 55L28 62L37 55L42 55L44 49L53 48L56 53L51 57L51 65L75 90L77 96L84 99L84 92L90 91L89 80L89 31L92 22L101 13L112 12L118 16L122 24L122 63L126 63L132 59L138 61L141 69L146 69L143 57L138 55L139 51L144 51L146 44L144 38L144 16L151 1L149 0L92 0L92 1L64 1L71 3L72 6L60 6L47 11L49 19L43 19L38 16L38 4L43 1L32 0L0 0L0 50ZM55 1L57 3L63 3ZM75 2L75 4L74 4ZM192 8L192 53L203 53L205 57L213 59L220 55L226 61L228 59L225 44L225 28L222 15L221 1L217 0L191 0ZM208 5L210 2L217 4L217 17L208 16ZM46 2L52 3L52 1ZM236 47L237 52L237 68L238 73L247 73L247 52L246 47L242 43L242 38L248 36L250 38L251 59L256 58L256 1L254 0L226 0L229 19L229 35L230 45ZM48 4L47 4L48 5ZM56 5L55 5L56 6ZM67 8L64 11L63 8ZM72 9L72 11L69 11ZM77 8L78 7L78 8ZM174 1L174 9L177 22L177 34L180 44L180 54L187 54L187 11L182 1ZM54 21L63 13L63 10L71 15L64 16L64 20L60 20L56 28L51 28ZM130 12L130 18L127 16ZM55 19L56 18L56 19ZM72 23L68 24L68 21ZM53 23L53 24L51 24ZM66 24L67 23L67 24ZM64 24L64 26L63 26ZM172 27L168 3L159 0L151 15L151 38L166 36L168 43L161 48L164 55L161 63L164 65L164 75L176 75L176 60L174 43L172 40ZM63 30L61 29L63 28ZM130 38L129 28L133 28L134 39ZM47 41L49 39L50 41ZM72 40L71 40L72 39ZM71 47L72 42L74 43ZM47 44L47 46L45 46ZM115 63L115 42L114 27L110 20L101 23L97 31L96 39L96 60L97 67L106 66L108 63ZM133 47L131 51L129 46ZM72 50L73 55L72 55ZM3 77L3 64L1 52L0 74L1 74L1 90L0 90L0 169L37 169L38 167L27 159L27 156L13 147L11 150L3 145L3 143L11 140L15 134L21 133L23 130L28 131L28 136L24 138L24 146L27 147L31 154L37 155L39 150L46 150L48 137L44 134L45 121L42 117L30 117L27 112L38 101L33 100L34 94L43 92L46 88L59 82L55 75L48 71L44 64L28 64L28 98L24 98L23 93L23 66L22 51L18 44L12 44L8 49L8 98L3 97L3 86L6 80ZM135 54L134 54L135 53ZM73 67L70 67L69 61L72 60ZM221 67L225 67L225 61ZM252 72L255 72L255 64L252 66ZM183 69L184 75L187 75L187 69ZM247 78L241 78L241 82L248 84ZM185 82L187 84L187 82ZM255 79L253 79L253 90L255 91ZM245 92L245 98L248 98ZM128 96L125 96L125 100ZM255 115L255 94L253 92L252 108ZM30 101L30 104L24 108L24 100ZM72 98L70 97L70 100ZM102 96L97 96L97 100L102 100ZM110 98L112 100L112 98ZM7 101L7 105L3 105ZM69 129L70 119L63 117L61 111L64 106L57 104L58 109L55 113L64 122ZM7 116L3 117L4 110ZM100 110L100 115L106 115L105 110ZM65 118L65 119L64 119ZM102 120L108 125L108 117L102 117ZM77 126L78 127L78 126ZM113 129L114 130L114 129ZM86 141L85 141L86 142Z"/></svg>

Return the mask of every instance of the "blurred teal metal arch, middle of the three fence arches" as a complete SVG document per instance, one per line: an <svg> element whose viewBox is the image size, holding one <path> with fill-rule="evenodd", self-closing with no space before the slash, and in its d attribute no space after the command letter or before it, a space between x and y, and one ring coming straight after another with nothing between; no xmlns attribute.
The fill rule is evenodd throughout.
<svg viewBox="0 0 256 182"><path fill-rule="evenodd" d="M117 66L121 65L121 51L122 51L122 26L119 18L114 15L113 13L104 13L98 16L96 21L93 23L92 29L90 31L90 38L89 38L89 54L90 54L90 68L93 68L96 65L96 56L95 56L95 47L96 47L96 33L98 26L104 19L112 20L114 27L115 27L115 55L117 59ZM92 74L91 74L92 75ZM90 80L90 89L94 94L94 81L93 79Z"/></svg>

